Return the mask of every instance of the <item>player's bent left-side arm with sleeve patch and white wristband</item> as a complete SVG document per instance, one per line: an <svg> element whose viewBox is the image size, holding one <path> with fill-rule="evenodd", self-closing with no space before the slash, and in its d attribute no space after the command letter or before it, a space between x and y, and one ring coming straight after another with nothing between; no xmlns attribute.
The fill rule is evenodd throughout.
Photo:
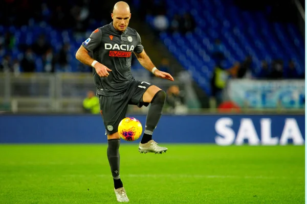
<svg viewBox="0 0 307 204"><path fill-rule="evenodd" d="M95 60L89 56L89 52L92 52L96 47L100 46L101 37L101 31L96 29L91 36L82 43L76 53L76 59L87 66L93 65L100 77L107 77L109 75L108 71L112 70L99 62L93 64Z"/></svg>

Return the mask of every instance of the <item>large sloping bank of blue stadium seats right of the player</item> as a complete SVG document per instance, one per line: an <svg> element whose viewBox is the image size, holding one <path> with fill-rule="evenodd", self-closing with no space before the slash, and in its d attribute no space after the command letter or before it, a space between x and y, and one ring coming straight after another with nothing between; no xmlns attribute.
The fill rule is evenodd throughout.
<svg viewBox="0 0 307 204"><path fill-rule="evenodd" d="M223 42L218 48L225 56L226 69L252 56L254 77L261 71L262 60L271 64L281 59L285 69L292 60L298 73L304 72L304 41L295 24L270 21L264 11L242 10L232 1L166 2L169 22L175 15L190 11L196 26L191 32L160 32L160 39L206 92L210 92L209 79L215 66L212 53L216 39ZM152 27L154 19L154 15L146 17Z"/></svg>

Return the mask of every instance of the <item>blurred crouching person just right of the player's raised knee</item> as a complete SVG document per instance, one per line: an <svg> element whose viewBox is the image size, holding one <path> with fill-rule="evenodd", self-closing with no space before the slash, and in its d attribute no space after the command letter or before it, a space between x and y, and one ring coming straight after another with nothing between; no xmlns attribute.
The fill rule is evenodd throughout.
<svg viewBox="0 0 307 204"><path fill-rule="evenodd" d="M166 105L168 111L177 115L186 114L188 108L184 104L184 94L178 86L171 86L166 91Z"/></svg>

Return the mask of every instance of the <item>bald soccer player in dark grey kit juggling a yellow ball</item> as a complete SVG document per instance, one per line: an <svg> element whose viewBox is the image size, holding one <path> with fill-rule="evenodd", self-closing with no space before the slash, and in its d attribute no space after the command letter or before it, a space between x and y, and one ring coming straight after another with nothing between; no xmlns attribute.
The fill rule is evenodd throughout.
<svg viewBox="0 0 307 204"><path fill-rule="evenodd" d="M173 78L153 65L145 53L140 35L128 27L131 17L128 4L116 3L111 16L113 22L93 31L78 49L76 58L83 64L93 67L106 129L107 158L113 175L114 191L119 202L128 202L119 175L120 136L117 132L119 122L125 118L128 105L142 107L151 104L139 151L162 154L167 150L152 140L152 132L160 120L166 94L155 85L134 79L130 71L131 54L134 53L140 64L156 77L170 81L173 81ZM89 52L93 53L93 58L89 56Z"/></svg>

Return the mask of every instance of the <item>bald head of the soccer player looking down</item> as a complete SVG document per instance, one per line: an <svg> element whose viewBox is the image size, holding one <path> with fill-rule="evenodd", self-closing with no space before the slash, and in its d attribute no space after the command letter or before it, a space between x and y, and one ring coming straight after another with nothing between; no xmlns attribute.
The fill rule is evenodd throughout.
<svg viewBox="0 0 307 204"><path fill-rule="evenodd" d="M131 17L129 5L125 2L116 3L111 16L114 28L118 31L124 32L128 27Z"/></svg>

